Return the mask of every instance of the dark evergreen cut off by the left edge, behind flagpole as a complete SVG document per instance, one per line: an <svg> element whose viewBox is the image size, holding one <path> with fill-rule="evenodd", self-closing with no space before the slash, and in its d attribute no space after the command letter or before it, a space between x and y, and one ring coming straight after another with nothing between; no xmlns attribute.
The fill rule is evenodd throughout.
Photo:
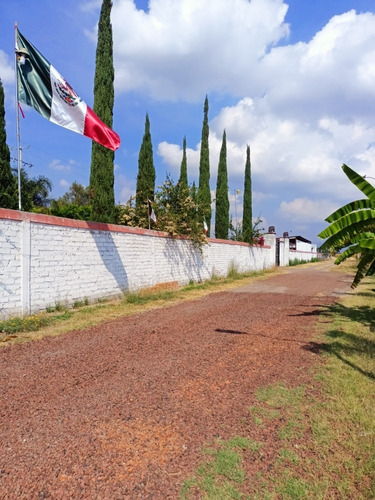
<svg viewBox="0 0 375 500"><path fill-rule="evenodd" d="M4 88L0 80L0 207L18 208L16 179L10 167L10 152L5 130Z"/></svg>

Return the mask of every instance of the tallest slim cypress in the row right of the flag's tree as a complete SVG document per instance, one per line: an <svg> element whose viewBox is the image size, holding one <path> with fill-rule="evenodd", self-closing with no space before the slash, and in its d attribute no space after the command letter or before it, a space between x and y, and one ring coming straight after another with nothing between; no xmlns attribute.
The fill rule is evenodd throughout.
<svg viewBox="0 0 375 500"><path fill-rule="evenodd" d="M206 221L208 236L210 235L211 229L210 151L208 145L209 133L208 98L206 96L204 101L204 118L199 161L198 209L200 216Z"/></svg>

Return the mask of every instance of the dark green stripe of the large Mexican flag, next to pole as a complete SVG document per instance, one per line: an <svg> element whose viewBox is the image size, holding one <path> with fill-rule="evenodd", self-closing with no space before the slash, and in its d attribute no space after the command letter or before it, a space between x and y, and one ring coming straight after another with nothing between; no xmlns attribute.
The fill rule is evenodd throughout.
<svg viewBox="0 0 375 500"><path fill-rule="evenodd" d="M25 64L17 63L18 100L49 120L52 105L50 63L19 30L17 43L18 48L25 48L29 53Z"/></svg>

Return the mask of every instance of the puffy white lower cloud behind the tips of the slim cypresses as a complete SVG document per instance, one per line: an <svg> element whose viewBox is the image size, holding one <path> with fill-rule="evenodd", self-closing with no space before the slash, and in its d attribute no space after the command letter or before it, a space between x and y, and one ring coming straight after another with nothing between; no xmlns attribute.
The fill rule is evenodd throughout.
<svg viewBox="0 0 375 500"><path fill-rule="evenodd" d="M226 107L210 124L211 177L215 181L221 134L227 133L227 164L229 184L242 187L246 146L251 148L253 178L268 196L280 189L309 190L317 195L329 195L344 200L353 189L341 171L347 163L362 174L375 176L375 124L366 127L353 119L340 123L322 117L317 124L307 117L280 119L265 111L264 99L239 101ZM189 174L197 176L199 144L188 151ZM178 173L182 151L179 145L166 141L159 144L158 155ZM269 192L265 191L268 186ZM332 189L333 186L336 189Z"/></svg>

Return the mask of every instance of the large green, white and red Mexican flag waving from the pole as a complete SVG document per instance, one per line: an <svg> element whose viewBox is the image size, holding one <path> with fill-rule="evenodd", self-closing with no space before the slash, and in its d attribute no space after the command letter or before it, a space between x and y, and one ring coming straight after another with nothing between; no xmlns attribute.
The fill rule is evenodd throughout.
<svg viewBox="0 0 375 500"><path fill-rule="evenodd" d="M18 101L44 118L89 137L115 151L120 137L76 94L47 59L20 33L16 34Z"/></svg>

